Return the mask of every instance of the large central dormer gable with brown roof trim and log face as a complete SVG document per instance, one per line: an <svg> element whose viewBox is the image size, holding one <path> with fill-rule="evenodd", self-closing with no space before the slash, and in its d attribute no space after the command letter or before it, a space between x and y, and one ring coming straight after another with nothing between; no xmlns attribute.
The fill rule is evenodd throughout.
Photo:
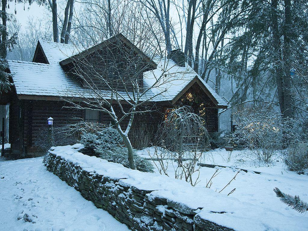
<svg viewBox="0 0 308 231"><path fill-rule="evenodd" d="M156 63L122 34L79 52L59 62L85 88L143 91L143 73L156 69ZM135 86L137 84L137 86Z"/></svg>

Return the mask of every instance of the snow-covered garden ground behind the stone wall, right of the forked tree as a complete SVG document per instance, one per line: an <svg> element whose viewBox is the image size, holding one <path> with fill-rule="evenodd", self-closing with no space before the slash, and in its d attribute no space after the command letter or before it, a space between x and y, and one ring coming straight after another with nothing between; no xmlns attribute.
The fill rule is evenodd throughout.
<svg viewBox="0 0 308 231"><path fill-rule="evenodd" d="M153 157L153 152L154 148L152 147L141 150L138 154L150 158L151 156ZM230 153L225 149L215 149L205 153L201 158L201 163L229 166L229 168L216 167L218 168L218 175L212 179L211 189L219 192L235 176L238 171L236 168L247 169L247 173L244 171L239 172L235 180L232 180L221 193L227 195L235 188L235 191L229 197L235 197L243 202L276 210L287 216L302 217L302 222L308 224L308 214L298 213L283 204L273 191L277 187L284 193L299 195L302 200L308 202L308 175L298 175L295 172L288 171L279 156L276 156L273 163L268 166L260 164L252 157L249 157L249 154L248 150ZM231 155L230 158L228 158L229 155ZM230 160L228 161L228 159ZM165 161L168 161L168 175L174 177L173 166L176 167L177 163L172 160ZM160 166L158 161L155 161L155 163ZM196 187L205 187L215 173L216 168L201 167L199 183ZM261 172L261 174L256 174L249 170ZM155 171L158 172L157 167ZM196 177L197 174L194 173L193 176Z"/></svg>

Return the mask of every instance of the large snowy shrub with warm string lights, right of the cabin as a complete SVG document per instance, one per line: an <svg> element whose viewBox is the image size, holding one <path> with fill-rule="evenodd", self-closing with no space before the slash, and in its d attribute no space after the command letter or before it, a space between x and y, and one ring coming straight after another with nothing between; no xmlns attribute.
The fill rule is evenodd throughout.
<svg viewBox="0 0 308 231"><path fill-rule="evenodd" d="M275 152L298 139L295 121L283 119L270 107L246 108L235 114L238 124L226 136L229 145L248 148L258 160L270 163Z"/></svg>

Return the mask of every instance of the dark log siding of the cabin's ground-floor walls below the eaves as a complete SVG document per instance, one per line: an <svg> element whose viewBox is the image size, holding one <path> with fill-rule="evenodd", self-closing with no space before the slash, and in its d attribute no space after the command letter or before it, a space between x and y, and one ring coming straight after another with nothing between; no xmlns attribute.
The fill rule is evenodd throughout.
<svg viewBox="0 0 308 231"><path fill-rule="evenodd" d="M194 93L198 98L196 100L181 100L185 98L185 94ZM182 105L192 106L196 113L198 113L200 102L204 103L205 113L203 115L206 126L209 132L218 131L218 109L213 105L213 102L207 95L204 94L198 86L193 86L178 100L174 105L170 102L157 102L147 106L147 110L151 112L136 114L133 126L140 126L147 124L157 131L164 120L165 111L168 108L179 107ZM187 98L187 97L186 97ZM76 118L85 119L84 110L76 110L74 108L67 108L68 103L63 101L51 100L19 100L17 103L10 105L10 143L13 153L30 153L36 152L35 141L39 131L43 127L47 127L47 118L50 116L54 119L54 126L61 126L72 123ZM125 104L124 110L129 108ZM120 118L121 111L118 105L114 105L114 110ZM121 122L121 127L126 128L129 117ZM99 122L103 124L110 124L111 120L108 114L100 112Z"/></svg>

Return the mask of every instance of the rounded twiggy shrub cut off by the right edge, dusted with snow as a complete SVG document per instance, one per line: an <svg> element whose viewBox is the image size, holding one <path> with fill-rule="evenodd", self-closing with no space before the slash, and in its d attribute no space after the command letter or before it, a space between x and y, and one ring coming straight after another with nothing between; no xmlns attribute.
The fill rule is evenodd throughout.
<svg viewBox="0 0 308 231"><path fill-rule="evenodd" d="M284 162L291 171L298 174L308 172L308 143L291 144L286 151Z"/></svg>

